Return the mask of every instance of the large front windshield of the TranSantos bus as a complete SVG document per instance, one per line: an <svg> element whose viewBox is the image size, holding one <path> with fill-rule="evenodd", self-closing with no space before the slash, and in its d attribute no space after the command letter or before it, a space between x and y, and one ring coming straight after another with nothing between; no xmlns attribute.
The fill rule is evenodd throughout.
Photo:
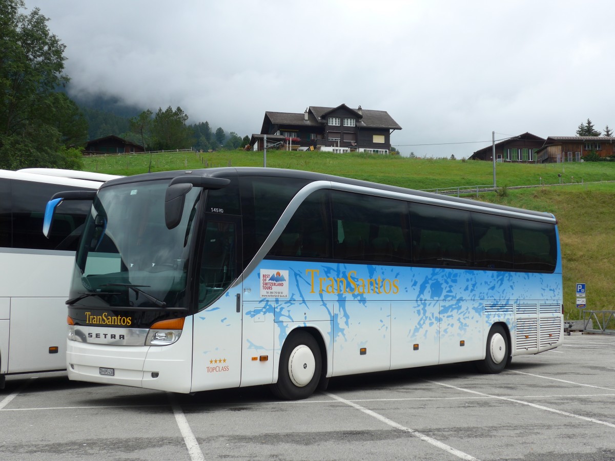
<svg viewBox="0 0 615 461"><path fill-rule="evenodd" d="M186 195L181 223L167 229L168 181L101 190L92 204L68 304L88 307L177 307L185 295L193 223L202 195Z"/></svg>

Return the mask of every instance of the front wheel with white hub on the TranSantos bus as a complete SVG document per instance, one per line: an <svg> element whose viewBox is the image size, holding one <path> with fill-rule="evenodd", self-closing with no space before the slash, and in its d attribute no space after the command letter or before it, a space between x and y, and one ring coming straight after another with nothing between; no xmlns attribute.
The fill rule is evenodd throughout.
<svg viewBox="0 0 615 461"><path fill-rule="evenodd" d="M305 331L291 334L280 354L274 395L284 400L301 400L314 393L322 373L320 348L314 337Z"/></svg>

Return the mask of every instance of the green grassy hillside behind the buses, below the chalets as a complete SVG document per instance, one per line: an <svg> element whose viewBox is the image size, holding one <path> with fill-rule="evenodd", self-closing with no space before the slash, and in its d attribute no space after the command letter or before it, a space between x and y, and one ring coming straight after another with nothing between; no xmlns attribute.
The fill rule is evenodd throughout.
<svg viewBox="0 0 615 461"><path fill-rule="evenodd" d="M146 173L149 154L85 157L85 170L115 175ZM208 167L262 167L263 152L177 152L153 154L151 170ZM267 166L318 171L377 183L435 189L493 184L490 162L408 159L378 154L268 151ZM561 175L561 176L558 176ZM602 182L600 182L602 181ZM566 317L579 318L576 283L587 284L588 309L613 310L615 282L615 162L571 164L497 164L496 183L502 189L479 194L478 200L531 210L549 211L558 218ZM561 184L560 184L561 182ZM510 189L513 186L542 187ZM476 199L476 195L469 195Z"/></svg>

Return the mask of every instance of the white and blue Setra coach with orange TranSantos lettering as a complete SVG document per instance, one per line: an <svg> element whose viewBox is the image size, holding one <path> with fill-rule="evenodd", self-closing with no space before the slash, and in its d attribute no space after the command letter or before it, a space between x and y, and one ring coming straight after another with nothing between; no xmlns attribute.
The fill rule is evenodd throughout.
<svg viewBox="0 0 615 461"><path fill-rule="evenodd" d="M355 373L497 373L562 342L549 213L274 168L151 173L68 198L93 200L67 301L70 379L271 384L292 400Z"/></svg>

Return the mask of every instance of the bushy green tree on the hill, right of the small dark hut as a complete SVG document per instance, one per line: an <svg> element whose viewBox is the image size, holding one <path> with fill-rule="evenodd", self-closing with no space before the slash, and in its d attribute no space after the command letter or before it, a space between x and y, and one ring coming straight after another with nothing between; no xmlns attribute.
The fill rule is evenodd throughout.
<svg viewBox="0 0 615 461"><path fill-rule="evenodd" d="M188 149L194 141L193 130L186 126L188 114L178 106L175 111L169 106L165 111L158 108L152 122L154 149Z"/></svg>

